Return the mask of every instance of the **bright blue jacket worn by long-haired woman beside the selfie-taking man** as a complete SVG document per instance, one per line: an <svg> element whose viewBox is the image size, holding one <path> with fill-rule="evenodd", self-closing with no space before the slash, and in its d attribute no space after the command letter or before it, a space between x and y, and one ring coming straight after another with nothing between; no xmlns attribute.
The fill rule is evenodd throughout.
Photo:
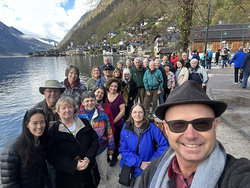
<svg viewBox="0 0 250 188"><path fill-rule="evenodd" d="M133 126L132 124L125 123L121 131L119 152L122 159L120 167L122 167L123 164L129 167L135 167L133 176L138 177L143 172L140 168L142 161L152 161L160 157L168 148L168 142L161 130L153 123L142 125L140 138L134 132ZM139 150L138 155L136 155L139 140ZM154 146L156 146L156 143L157 150L155 151Z"/></svg>

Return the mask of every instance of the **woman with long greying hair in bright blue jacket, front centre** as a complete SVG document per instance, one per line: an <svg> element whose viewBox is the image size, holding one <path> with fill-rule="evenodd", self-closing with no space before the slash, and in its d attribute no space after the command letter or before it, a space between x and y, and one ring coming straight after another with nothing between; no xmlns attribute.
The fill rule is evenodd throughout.
<svg viewBox="0 0 250 188"><path fill-rule="evenodd" d="M119 148L122 156L120 167L124 164L134 167L130 187L138 187L143 170L154 158L160 157L167 148L166 137L158 127L149 122L144 107L139 103L135 104L121 131Z"/></svg>

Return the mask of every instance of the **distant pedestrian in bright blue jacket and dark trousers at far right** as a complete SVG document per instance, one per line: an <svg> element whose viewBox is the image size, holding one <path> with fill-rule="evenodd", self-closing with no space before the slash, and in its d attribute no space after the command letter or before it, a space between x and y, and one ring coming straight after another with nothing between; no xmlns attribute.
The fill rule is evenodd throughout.
<svg viewBox="0 0 250 188"><path fill-rule="evenodd" d="M245 52L243 52L243 48L240 47L239 52L234 55L234 57L231 59L229 63L231 65L234 62L234 84L238 84L238 78L239 78L238 74L239 74L240 67L245 59L245 56L246 54ZM240 75L240 81L242 77L243 77L243 74Z"/></svg>

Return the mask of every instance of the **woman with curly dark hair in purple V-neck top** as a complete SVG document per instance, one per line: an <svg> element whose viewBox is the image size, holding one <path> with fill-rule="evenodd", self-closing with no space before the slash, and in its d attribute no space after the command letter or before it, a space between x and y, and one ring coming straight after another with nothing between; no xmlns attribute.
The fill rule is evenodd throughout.
<svg viewBox="0 0 250 188"><path fill-rule="evenodd" d="M120 94L121 92L121 82L116 78L111 78L108 80L107 85L107 98L106 103L109 103L110 109L114 118L115 127L115 150L110 161L110 166L115 166L117 162L117 157L119 155L118 146L120 141L120 133L123 125L123 116L125 114L125 101Z"/></svg>

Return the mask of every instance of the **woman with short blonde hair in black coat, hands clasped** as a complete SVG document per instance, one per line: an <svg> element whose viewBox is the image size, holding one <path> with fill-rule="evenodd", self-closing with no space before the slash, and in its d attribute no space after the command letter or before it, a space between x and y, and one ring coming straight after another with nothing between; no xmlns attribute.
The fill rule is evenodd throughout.
<svg viewBox="0 0 250 188"><path fill-rule="evenodd" d="M74 115L76 104L70 97L56 103L60 120L49 128L48 161L56 168L57 188L95 187L91 165L95 163L98 136L88 119Z"/></svg>

